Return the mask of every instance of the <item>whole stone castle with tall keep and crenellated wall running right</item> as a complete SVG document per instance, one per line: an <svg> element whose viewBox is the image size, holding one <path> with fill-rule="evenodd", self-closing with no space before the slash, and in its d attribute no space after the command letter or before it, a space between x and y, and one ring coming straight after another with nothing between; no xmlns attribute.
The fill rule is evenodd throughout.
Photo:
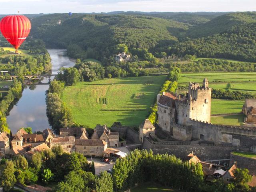
<svg viewBox="0 0 256 192"><path fill-rule="evenodd" d="M203 85L189 83L186 96L158 94L158 125L174 140L228 144L243 150L256 146L255 126L226 126L211 123L211 88L207 78Z"/></svg>

